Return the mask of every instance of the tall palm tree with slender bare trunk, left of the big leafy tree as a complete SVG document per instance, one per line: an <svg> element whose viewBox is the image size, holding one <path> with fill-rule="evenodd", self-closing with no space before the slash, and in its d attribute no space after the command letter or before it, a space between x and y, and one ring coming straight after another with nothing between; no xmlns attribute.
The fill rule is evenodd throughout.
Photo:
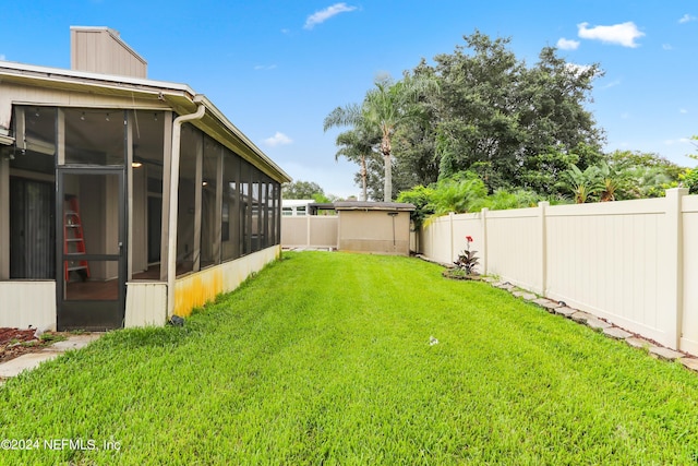
<svg viewBox="0 0 698 466"><path fill-rule="evenodd" d="M385 178L383 199L390 202L393 198L393 148L392 140L395 130L409 120L421 118L422 108L418 99L429 89L436 89L435 80L406 76L402 81L393 82L390 77L375 81L375 88L366 93L362 105L350 104L335 108L323 124L325 131L333 127L376 128L381 133L380 152L383 155Z"/></svg>

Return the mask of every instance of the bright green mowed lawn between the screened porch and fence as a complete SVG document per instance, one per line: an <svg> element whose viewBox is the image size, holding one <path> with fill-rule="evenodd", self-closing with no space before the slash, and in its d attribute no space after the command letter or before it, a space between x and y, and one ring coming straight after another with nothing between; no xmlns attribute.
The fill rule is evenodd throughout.
<svg viewBox="0 0 698 466"><path fill-rule="evenodd" d="M440 272L285 254L184 327L113 332L8 382L0 439L41 443L0 463L695 462L696 374Z"/></svg>

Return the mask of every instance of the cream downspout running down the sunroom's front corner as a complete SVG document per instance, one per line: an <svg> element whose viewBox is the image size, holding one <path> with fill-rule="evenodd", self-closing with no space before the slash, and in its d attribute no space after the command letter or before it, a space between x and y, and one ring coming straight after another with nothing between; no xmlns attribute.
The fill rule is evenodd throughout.
<svg viewBox="0 0 698 466"><path fill-rule="evenodd" d="M181 115L172 121L172 155L170 157L170 212L169 238L167 241L167 318L174 313L174 277L177 274L177 212L179 208L179 159L182 123L198 120L206 113L206 107L198 96L194 97L198 108L194 113Z"/></svg>

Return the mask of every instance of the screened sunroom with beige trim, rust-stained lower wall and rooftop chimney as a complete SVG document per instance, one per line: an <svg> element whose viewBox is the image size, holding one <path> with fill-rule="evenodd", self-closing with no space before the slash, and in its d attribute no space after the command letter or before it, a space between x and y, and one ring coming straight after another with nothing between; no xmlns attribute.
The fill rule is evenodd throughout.
<svg viewBox="0 0 698 466"><path fill-rule="evenodd" d="M0 62L0 326L161 325L278 256L290 179L115 31L71 35L72 70Z"/></svg>

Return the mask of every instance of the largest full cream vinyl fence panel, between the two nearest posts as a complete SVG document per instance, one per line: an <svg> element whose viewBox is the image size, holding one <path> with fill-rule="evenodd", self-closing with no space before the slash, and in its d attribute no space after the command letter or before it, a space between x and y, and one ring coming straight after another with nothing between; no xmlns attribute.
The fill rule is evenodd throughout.
<svg viewBox="0 0 698 466"><path fill-rule="evenodd" d="M574 206L546 212L546 290L552 299L633 332L665 339L660 316L669 263L665 200Z"/></svg>

